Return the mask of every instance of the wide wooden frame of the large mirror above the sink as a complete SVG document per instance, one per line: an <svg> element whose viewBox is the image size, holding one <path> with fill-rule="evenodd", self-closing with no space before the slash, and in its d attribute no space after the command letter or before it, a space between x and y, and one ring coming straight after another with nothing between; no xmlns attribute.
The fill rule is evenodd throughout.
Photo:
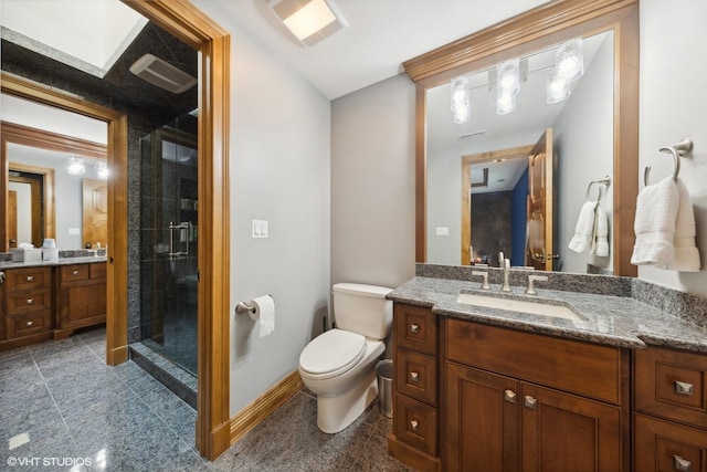
<svg viewBox="0 0 707 472"><path fill-rule="evenodd" d="M403 63L415 82L415 261L426 262L426 91L538 49L614 31L614 275L631 264L639 195L639 0L555 0Z"/></svg>

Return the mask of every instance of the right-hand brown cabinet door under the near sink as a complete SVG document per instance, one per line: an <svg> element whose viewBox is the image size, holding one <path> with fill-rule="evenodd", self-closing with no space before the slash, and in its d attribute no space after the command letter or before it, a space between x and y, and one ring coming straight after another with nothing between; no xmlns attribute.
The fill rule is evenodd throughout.
<svg viewBox="0 0 707 472"><path fill-rule="evenodd" d="M524 471L619 471L621 409L523 384Z"/></svg>

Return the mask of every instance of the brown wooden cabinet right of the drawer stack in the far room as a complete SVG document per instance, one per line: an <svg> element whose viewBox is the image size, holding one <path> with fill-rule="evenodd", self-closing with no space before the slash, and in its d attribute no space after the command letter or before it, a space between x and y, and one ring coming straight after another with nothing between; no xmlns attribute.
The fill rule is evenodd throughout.
<svg viewBox="0 0 707 472"><path fill-rule="evenodd" d="M54 339L74 329L106 321L106 263L56 268L56 322Z"/></svg>

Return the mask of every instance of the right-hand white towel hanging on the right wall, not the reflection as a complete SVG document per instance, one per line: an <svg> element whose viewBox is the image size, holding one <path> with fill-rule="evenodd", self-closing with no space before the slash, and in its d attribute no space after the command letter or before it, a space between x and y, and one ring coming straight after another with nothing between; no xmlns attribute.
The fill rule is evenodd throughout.
<svg viewBox="0 0 707 472"><path fill-rule="evenodd" d="M679 178L675 182L677 186L678 206L677 218L675 219L675 256L673 261L662 269L677 272L699 272L699 251L695 245L695 212L689 191L685 182Z"/></svg>

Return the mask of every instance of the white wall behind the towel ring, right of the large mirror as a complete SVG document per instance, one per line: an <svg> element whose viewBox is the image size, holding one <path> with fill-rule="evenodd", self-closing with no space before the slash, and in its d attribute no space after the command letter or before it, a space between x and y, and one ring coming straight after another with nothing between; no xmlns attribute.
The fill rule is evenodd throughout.
<svg viewBox="0 0 707 472"><path fill-rule="evenodd" d="M640 171L651 166L651 181L673 172L673 158L658 148L689 137L690 157L682 159L697 223L701 270L676 273L639 268L639 276L707 296L707 2L641 1ZM643 177L641 177L643 187Z"/></svg>

